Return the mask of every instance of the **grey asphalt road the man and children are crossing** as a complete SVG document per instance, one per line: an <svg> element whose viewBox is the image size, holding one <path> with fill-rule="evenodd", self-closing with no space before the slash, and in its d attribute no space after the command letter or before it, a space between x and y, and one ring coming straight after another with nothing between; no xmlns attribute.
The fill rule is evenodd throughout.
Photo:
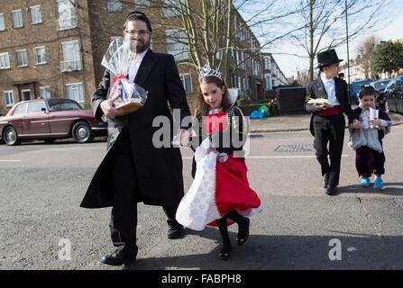
<svg viewBox="0 0 403 288"><path fill-rule="evenodd" d="M347 137L347 136L346 136ZM247 157L261 213L251 236L230 260L217 257L217 229L186 229L169 240L160 207L139 204L138 260L128 269L403 269L403 125L384 140L385 187L360 187L354 152L343 148L339 193L325 195L313 151L277 152L280 145L312 144L304 132L255 135ZM105 142L58 141L0 145L0 269L123 269L101 257L114 247L110 208L79 208L105 155ZM191 156L182 150L186 190ZM335 243L335 244L334 244ZM330 246L329 246L330 244Z"/></svg>

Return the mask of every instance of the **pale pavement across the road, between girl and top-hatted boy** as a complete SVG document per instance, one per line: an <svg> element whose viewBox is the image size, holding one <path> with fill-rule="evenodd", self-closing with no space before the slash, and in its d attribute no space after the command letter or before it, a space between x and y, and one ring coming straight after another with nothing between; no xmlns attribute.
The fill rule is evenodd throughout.
<svg viewBox="0 0 403 288"><path fill-rule="evenodd" d="M355 107L353 106L353 109ZM403 123L403 115L398 113L389 112L390 120L393 125ZM345 117L346 123L347 117ZM251 119L251 133L270 133L270 132L284 132L284 131L301 131L309 130L309 121L311 120L310 113L296 113L296 114L281 114L279 116L271 116L263 119Z"/></svg>

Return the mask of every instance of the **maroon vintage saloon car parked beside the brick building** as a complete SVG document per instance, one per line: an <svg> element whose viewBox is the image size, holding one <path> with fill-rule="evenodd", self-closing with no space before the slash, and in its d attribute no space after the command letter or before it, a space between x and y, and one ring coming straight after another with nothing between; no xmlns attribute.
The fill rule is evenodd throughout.
<svg viewBox="0 0 403 288"><path fill-rule="evenodd" d="M7 145L19 144L23 139L41 139L51 143L55 139L73 137L79 143L105 136L107 123L94 118L70 99L37 99L14 104L0 117L0 138Z"/></svg>

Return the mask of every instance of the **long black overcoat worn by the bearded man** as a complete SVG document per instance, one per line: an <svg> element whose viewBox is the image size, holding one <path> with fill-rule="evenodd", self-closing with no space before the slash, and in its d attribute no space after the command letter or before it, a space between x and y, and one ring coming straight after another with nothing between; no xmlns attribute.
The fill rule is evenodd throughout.
<svg viewBox="0 0 403 288"><path fill-rule="evenodd" d="M112 76L113 77L113 76ZM91 99L96 118L103 112L99 104L106 99L111 75L108 70ZM179 148L155 148L152 137L160 127L153 127L157 116L166 116L172 127L173 119L169 112L180 109L180 119L189 116L186 92L179 78L174 58L169 54L154 53L148 50L134 83L141 85L149 93L145 105L139 110L108 121L107 153L88 186L80 206L103 208L114 205L114 184L111 177L111 151L120 131L127 127L131 137L135 176L139 184L139 202L169 207L177 205L184 195L182 158ZM183 127L184 128L184 127ZM185 127L186 128L186 127ZM170 139L172 139L172 129ZM169 141L170 143L170 141ZM133 179L125 179L131 181Z"/></svg>

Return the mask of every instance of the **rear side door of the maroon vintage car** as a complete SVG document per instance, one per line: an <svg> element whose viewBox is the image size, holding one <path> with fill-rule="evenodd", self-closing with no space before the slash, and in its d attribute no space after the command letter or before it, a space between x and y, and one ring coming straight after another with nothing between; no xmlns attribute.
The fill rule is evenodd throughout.
<svg viewBox="0 0 403 288"><path fill-rule="evenodd" d="M28 103L27 115L23 121L23 134L26 136L49 136L49 113L44 101Z"/></svg>

